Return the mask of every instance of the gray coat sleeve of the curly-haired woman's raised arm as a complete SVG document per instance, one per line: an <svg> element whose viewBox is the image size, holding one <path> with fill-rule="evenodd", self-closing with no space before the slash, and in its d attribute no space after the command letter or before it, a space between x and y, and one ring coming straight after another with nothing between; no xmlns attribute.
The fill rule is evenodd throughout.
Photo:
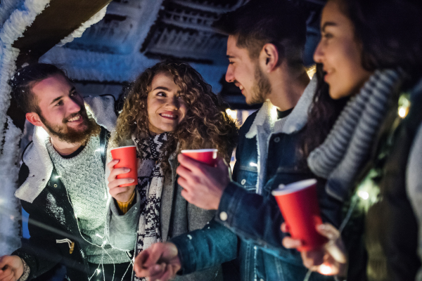
<svg viewBox="0 0 422 281"><path fill-rule="evenodd" d="M141 197L136 191L136 203L127 211L120 215L115 204L115 200L110 201L108 208L108 242L113 248L124 251L132 251L136 243L136 228L139 222L141 211Z"/></svg>

